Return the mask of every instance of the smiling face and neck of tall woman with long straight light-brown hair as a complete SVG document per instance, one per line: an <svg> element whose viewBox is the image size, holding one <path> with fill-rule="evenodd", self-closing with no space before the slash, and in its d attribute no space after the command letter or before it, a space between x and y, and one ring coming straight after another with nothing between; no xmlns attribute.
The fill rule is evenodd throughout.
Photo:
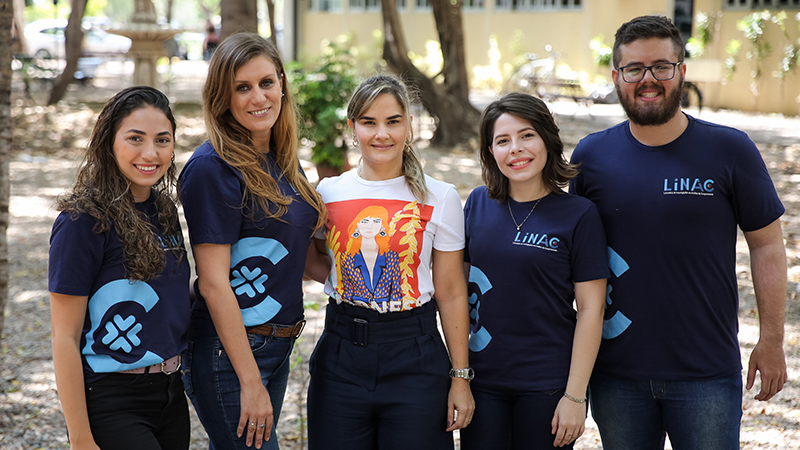
<svg viewBox="0 0 800 450"><path fill-rule="evenodd" d="M265 56L247 61L234 76L231 114L250 131L256 146L265 150L281 111L282 86L275 64Z"/></svg>

